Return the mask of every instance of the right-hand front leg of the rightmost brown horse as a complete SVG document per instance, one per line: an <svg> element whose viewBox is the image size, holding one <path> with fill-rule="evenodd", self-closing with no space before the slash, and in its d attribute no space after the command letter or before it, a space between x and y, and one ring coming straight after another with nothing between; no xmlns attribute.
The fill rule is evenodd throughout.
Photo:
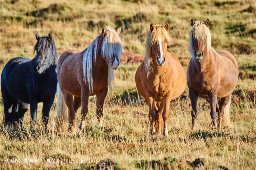
<svg viewBox="0 0 256 170"><path fill-rule="evenodd" d="M216 112L216 106L217 106L217 92L211 92L208 93L209 102L210 102L210 108L211 108L211 119L212 119L212 125L214 128L217 128L217 112Z"/></svg>

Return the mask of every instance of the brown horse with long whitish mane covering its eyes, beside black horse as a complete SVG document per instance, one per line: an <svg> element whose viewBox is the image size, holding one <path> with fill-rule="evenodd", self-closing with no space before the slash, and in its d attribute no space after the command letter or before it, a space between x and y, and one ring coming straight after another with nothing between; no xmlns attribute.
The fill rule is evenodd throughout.
<svg viewBox="0 0 256 170"><path fill-rule="evenodd" d="M114 83L113 70L119 66L122 54L120 31L121 28L114 30L108 26L85 50L70 50L61 54L57 64L57 128L67 120L68 108L69 130L72 130L76 112L82 106L81 128L88 112L89 96L93 95L97 98L96 114L102 126L104 100L108 87Z"/></svg>

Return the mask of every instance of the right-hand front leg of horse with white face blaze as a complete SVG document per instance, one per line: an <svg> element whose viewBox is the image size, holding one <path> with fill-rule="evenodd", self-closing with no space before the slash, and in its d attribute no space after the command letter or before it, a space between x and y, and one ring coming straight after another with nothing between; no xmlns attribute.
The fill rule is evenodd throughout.
<svg viewBox="0 0 256 170"><path fill-rule="evenodd" d="M166 137L168 137L168 126L167 126L167 122L168 122L168 118L169 118L169 107L170 107L170 102L171 102L171 98L172 97L172 92L169 92L166 94L165 99L164 99L164 111L163 111L163 121L164 121L164 131L163 131L163 135L165 135Z"/></svg>

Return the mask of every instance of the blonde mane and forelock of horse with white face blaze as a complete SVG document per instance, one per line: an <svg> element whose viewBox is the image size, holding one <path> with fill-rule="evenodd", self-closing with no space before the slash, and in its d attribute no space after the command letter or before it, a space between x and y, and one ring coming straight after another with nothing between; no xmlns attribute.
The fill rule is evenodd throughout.
<svg viewBox="0 0 256 170"><path fill-rule="evenodd" d="M162 27L160 24L155 25L153 31L149 31L147 34L147 41L146 41L146 54L143 61L143 64L145 66L147 77L150 75L152 71L151 63L152 63L152 57L151 57L151 46L153 44L158 44L159 39L167 39L167 41L170 41L170 36L168 35L168 32L164 27Z"/></svg>

